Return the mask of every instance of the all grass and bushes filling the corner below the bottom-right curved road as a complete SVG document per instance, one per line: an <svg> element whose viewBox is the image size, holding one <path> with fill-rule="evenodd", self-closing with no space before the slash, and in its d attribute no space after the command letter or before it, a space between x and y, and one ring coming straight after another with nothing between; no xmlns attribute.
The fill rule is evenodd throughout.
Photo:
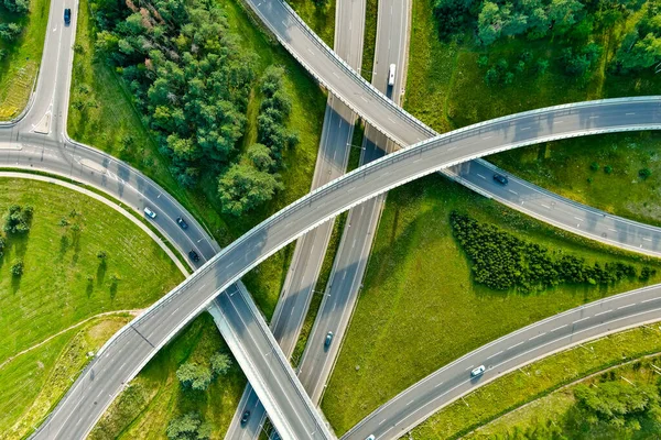
<svg viewBox="0 0 661 440"><path fill-rule="evenodd" d="M660 429L655 409L659 351L659 322L575 346L509 373L454 402L415 428L411 437L415 440L654 438ZM643 358L648 354L654 355Z"/></svg>

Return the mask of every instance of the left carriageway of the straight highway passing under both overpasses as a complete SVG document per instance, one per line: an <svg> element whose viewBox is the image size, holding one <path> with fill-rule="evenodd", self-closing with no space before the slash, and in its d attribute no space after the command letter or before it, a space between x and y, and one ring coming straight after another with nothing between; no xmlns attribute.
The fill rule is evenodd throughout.
<svg viewBox="0 0 661 440"><path fill-rule="evenodd" d="M358 69L362 61L365 0L338 0L335 11L335 51L351 67ZM355 121L354 112L329 95L312 189L327 184L346 172ZM294 255L270 324L275 340L288 359L294 351L310 309L333 226L334 221L328 221L296 241ZM241 426L245 411L250 411L250 418ZM264 421L264 408L251 385L248 384L225 438L257 439Z"/></svg>

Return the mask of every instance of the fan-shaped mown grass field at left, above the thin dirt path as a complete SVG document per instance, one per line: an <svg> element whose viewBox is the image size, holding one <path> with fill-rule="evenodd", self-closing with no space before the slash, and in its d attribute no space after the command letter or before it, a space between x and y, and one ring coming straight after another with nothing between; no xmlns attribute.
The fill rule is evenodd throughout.
<svg viewBox="0 0 661 440"><path fill-rule="evenodd" d="M32 205L34 219L28 235L7 240L0 260L0 362L88 317L149 306L183 279L149 235L98 200L2 178L0 212L13 204ZM17 258L25 266L20 278L9 274Z"/></svg>

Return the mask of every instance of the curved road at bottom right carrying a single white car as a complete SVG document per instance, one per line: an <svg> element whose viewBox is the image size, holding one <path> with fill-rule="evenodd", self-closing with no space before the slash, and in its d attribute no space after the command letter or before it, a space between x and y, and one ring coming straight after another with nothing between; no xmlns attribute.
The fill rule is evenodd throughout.
<svg viewBox="0 0 661 440"><path fill-rule="evenodd" d="M534 360L609 332L661 320L661 285L587 304L517 330L418 382L347 432L343 440L398 439L432 414ZM661 329L654 329L661 331ZM470 370L485 365L483 376Z"/></svg>

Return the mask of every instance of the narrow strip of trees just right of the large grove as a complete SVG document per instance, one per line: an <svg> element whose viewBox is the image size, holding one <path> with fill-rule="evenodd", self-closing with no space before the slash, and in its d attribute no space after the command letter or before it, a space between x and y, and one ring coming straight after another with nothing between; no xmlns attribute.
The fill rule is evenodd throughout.
<svg viewBox="0 0 661 440"><path fill-rule="evenodd" d="M258 143L248 151L248 162L234 164L218 182L223 211L234 216L270 200L283 185L278 173L283 167L283 151L299 143L288 131L292 101L283 84L284 69L271 66L261 79L263 96L257 118Z"/></svg>

